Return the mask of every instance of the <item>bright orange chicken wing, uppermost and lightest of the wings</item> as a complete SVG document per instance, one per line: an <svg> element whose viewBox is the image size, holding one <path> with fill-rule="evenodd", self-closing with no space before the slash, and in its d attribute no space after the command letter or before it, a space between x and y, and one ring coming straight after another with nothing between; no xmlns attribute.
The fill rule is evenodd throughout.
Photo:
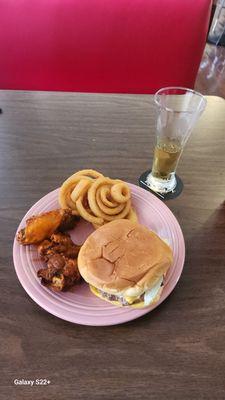
<svg viewBox="0 0 225 400"><path fill-rule="evenodd" d="M72 229L78 217L72 215L71 210L52 210L33 216L26 221L26 227L17 234L20 244L38 244L49 238L54 232L64 232Z"/></svg>

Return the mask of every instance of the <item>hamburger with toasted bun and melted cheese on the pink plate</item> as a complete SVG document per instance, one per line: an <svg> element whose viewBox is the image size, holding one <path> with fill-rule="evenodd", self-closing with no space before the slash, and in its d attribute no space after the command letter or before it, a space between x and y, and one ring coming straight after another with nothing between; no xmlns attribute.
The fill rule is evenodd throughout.
<svg viewBox="0 0 225 400"><path fill-rule="evenodd" d="M172 262L171 248L156 233L125 219L98 228L78 255L80 274L93 294L138 308L159 300Z"/></svg>

